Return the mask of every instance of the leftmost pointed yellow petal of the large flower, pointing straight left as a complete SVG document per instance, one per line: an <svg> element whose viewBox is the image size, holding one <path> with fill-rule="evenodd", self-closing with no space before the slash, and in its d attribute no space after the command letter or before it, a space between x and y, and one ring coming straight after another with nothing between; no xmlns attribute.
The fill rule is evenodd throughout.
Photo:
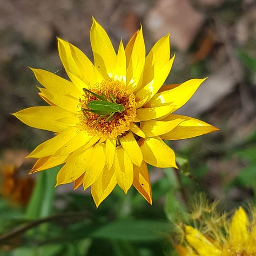
<svg viewBox="0 0 256 256"><path fill-rule="evenodd" d="M71 126L74 126L78 119L75 114L68 112L58 106L35 106L29 107L14 113L21 122L31 127L52 132L63 132ZM73 124L59 122L59 119L71 117Z"/></svg>

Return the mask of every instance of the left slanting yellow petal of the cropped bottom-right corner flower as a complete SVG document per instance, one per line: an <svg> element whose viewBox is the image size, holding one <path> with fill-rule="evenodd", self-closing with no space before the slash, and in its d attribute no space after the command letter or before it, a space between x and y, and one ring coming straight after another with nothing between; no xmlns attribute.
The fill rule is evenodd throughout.
<svg viewBox="0 0 256 256"><path fill-rule="evenodd" d="M221 251L204 237L196 228L186 226L186 240L200 256L221 256Z"/></svg>

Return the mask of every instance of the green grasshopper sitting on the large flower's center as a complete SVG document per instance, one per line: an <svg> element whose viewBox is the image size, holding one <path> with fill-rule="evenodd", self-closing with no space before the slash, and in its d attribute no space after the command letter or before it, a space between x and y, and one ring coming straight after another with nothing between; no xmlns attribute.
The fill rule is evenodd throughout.
<svg viewBox="0 0 256 256"><path fill-rule="evenodd" d="M115 113L124 112L124 105L118 104L115 97L111 93L110 98L108 98L104 93L102 93L102 95L98 95L97 93L92 92L86 88L83 88L83 90L87 97L89 97L87 94L87 92L89 92L98 99L88 102L87 106L90 107L90 109L82 109L85 117L87 117L85 112L89 111L91 113L99 114L98 121L100 118L108 116L105 119L105 122L109 122Z"/></svg>

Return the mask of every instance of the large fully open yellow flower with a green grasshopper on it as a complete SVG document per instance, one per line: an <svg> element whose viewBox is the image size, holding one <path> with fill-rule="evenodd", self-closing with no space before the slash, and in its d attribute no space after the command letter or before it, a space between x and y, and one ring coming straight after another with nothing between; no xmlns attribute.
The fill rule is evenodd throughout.
<svg viewBox="0 0 256 256"><path fill-rule="evenodd" d="M160 89L174 60L170 59L169 35L159 39L146 56L141 28L125 48L121 40L116 53L105 30L93 19L91 46L94 64L76 46L58 38L59 56L71 82L32 69L44 86L38 88L39 95L50 106L29 107L14 115L56 136L31 152L29 157L39 158L31 173L65 163L58 172L57 185L74 182L75 188L91 187L97 206L116 184L125 193L133 185L151 204L146 163L177 168L174 152L164 139L218 130L200 120L172 114L205 79ZM111 107L103 108L104 100Z"/></svg>

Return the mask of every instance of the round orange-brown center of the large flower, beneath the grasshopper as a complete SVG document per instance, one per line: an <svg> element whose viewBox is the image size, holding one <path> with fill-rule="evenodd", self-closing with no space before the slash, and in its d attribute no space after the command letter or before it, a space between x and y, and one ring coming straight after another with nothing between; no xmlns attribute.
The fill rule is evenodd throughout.
<svg viewBox="0 0 256 256"><path fill-rule="evenodd" d="M122 136L136 117L135 96L125 84L112 78L85 90L80 106L81 130L106 139Z"/></svg>

